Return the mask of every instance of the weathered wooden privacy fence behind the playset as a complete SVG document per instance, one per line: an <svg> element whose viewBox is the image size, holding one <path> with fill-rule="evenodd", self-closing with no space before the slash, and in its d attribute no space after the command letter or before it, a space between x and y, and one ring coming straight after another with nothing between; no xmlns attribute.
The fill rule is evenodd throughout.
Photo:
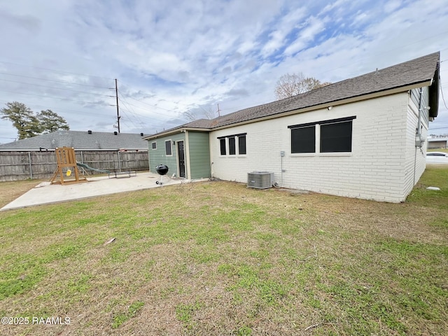
<svg viewBox="0 0 448 336"><path fill-rule="evenodd" d="M113 172L149 170L147 151L75 151L76 161ZM57 169L54 150L0 151L0 181L50 179ZM80 169L83 172L83 169ZM95 172L86 171L92 175ZM98 174L98 173L97 173Z"/></svg>

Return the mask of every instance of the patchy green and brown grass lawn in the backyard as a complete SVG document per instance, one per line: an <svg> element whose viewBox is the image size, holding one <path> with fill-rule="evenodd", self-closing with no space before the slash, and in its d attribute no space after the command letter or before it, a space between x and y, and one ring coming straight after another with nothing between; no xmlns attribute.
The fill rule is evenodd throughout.
<svg viewBox="0 0 448 336"><path fill-rule="evenodd" d="M3 211L0 246L1 335L448 333L444 167L402 204L204 182Z"/></svg>

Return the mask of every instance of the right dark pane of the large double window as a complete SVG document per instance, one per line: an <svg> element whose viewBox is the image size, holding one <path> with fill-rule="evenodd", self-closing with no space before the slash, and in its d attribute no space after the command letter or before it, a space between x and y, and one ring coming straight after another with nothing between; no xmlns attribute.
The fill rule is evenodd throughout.
<svg viewBox="0 0 448 336"><path fill-rule="evenodd" d="M321 125L321 153L351 152L351 124Z"/></svg>

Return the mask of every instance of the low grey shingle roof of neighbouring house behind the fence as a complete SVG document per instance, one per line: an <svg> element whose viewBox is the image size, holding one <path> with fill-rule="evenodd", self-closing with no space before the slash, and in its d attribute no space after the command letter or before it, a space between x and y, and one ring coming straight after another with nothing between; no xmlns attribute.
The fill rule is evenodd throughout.
<svg viewBox="0 0 448 336"><path fill-rule="evenodd" d="M0 145L0 150L38 151L39 148L54 149L73 147L76 150L148 150L148 142L142 134L111 132L57 131Z"/></svg>

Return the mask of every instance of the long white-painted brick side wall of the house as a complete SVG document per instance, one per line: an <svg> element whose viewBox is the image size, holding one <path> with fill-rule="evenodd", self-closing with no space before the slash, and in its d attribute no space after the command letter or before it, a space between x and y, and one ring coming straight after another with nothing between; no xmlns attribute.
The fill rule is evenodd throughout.
<svg viewBox="0 0 448 336"><path fill-rule="evenodd" d="M248 172L262 170L274 172L276 182L286 188L401 202L412 190L409 176L411 183L414 179L415 120L407 117L409 110L408 94L403 92L334 106L330 111L319 109L211 132L213 176L246 183ZM349 116L356 116L350 155L291 155L288 125ZM407 127L407 123L412 125ZM239 133L247 133L247 155L221 156L217 137ZM286 154L283 160L281 151ZM283 174L282 161L286 169ZM422 167L424 170L424 159L423 166L418 160L418 177Z"/></svg>

